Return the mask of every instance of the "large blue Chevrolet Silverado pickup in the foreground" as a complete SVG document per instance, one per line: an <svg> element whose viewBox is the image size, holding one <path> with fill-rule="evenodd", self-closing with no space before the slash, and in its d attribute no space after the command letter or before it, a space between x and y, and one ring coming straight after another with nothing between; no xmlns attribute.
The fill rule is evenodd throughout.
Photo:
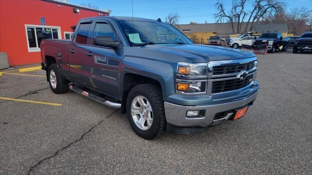
<svg viewBox="0 0 312 175"><path fill-rule="evenodd" d="M83 18L72 40L40 48L54 93L71 89L120 108L144 139L239 119L259 88L254 53L196 45L159 19Z"/></svg>

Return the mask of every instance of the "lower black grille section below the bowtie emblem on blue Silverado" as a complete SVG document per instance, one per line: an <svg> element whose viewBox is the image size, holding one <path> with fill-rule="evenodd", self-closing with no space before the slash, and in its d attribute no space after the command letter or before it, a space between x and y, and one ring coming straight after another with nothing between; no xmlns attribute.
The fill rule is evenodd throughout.
<svg viewBox="0 0 312 175"><path fill-rule="evenodd" d="M231 90L236 90L240 88L244 88L249 85L253 80L253 76L250 75L244 79L231 79L231 80L223 80L223 81L215 81L212 85L212 93L220 93L227 92Z"/></svg>

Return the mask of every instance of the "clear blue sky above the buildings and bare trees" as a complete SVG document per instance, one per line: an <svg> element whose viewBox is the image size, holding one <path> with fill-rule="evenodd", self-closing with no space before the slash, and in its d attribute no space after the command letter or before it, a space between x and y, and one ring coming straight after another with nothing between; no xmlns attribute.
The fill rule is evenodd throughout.
<svg viewBox="0 0 312 175"><path fill-rule="evenodd" d="M227 11L230 10L232 0L223 2ZM252 1L248 1L246 8L251 10ZM286 10L306 7L312 10L312 0L280 0L286 3ZM110 16L132 17L132 0L67 0L69 3L80 5L95 4L99 10L112 10ZM133 16L139 18L157 19L165 21L166 16L173 12L180 15L179 24L215 23L214 14L217 12L217 0L133 0Z"/></svg>

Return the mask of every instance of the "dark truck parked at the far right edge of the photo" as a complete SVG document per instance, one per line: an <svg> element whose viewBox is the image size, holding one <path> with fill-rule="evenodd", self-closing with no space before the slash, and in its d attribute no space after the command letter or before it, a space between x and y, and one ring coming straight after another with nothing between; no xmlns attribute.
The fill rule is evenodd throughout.
<svg viewBox="0 0 312 175"><path fill-rule="evenodd" d="M294 43L292 53L312 51L312 32L303 33Z"/></svg>

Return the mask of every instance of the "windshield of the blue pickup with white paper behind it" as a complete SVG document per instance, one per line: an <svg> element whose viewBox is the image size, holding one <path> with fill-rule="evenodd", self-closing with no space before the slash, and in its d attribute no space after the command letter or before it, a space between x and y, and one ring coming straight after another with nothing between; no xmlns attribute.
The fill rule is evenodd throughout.
<svg viewBox="0 0 312 175"><path fill-rule="evenodd" d="M192 43L176 28L164 22L132 20L119 20L118 22L132 46Z"/></svg>

